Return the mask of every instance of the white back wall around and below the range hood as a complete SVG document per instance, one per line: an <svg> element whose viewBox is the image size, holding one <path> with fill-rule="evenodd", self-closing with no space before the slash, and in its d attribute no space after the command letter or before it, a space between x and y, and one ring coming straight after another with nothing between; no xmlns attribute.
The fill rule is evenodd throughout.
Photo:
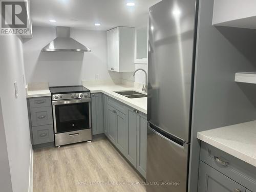
<svg viewBox="0 0 256 192"><path fill-rule="evenodd" d="M56 37L55 27L33 27L33 38L24 42L28 82L49 82L50 86L81 84L81 80L120 79L107 70L106 32L71 29L71 37L92 52L41 52Z"/></svg>

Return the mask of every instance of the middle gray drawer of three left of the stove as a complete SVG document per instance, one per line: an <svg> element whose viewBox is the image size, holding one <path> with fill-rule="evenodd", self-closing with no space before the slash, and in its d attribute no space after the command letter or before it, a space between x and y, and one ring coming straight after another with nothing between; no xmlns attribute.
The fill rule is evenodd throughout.
<svg viewBox="0 0 256 192"><path fill-rule="evenodd" d="M32 126L53 124L52 108L50 106L31 108L30 113Z"/></svg>

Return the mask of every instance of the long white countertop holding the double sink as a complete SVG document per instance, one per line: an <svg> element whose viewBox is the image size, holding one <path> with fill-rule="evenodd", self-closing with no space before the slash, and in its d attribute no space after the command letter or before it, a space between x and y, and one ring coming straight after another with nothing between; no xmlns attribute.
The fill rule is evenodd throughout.
<svg viewBox="0 0 256 192"><path fill-rule="evenodd" d="M126 90L135 90L140 93L143 93L141 89L125 86L122 84L111 84L111 85L95 85L95 86L86 86L87 89L91 91L91 93L104 93L110 97L113 97L114 99L123 102L124 104L127 104L131 106L132 108L147 114L147 98L127 98L125 96L122 96L118 93L115 93L115 91L126 91Z"/></svg>

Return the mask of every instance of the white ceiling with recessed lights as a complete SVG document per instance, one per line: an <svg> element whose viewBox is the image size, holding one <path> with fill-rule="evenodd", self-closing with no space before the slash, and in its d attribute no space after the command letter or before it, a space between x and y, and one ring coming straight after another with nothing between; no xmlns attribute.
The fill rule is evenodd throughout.
<svg viewBox="0 0 256 192"><path fill-rule="evenodd" d="M135 6L126 6L127 2L134 2ZM148 8L157 2L160 0L30 0L30 12L33 26L108 30L146 26ZM57 22L51 23L50 19ZM94 26L95 23L101 26Z"/></svg>

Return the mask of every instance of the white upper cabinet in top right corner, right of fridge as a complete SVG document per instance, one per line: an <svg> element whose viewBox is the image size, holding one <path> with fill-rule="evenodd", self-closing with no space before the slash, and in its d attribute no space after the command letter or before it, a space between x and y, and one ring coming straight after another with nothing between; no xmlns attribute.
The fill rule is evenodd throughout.
<svg viewBox="0 0 256 192"><path fill-rule="evenodd" d="M256 0L215 0L212 25L256 29Z"/></svg>

